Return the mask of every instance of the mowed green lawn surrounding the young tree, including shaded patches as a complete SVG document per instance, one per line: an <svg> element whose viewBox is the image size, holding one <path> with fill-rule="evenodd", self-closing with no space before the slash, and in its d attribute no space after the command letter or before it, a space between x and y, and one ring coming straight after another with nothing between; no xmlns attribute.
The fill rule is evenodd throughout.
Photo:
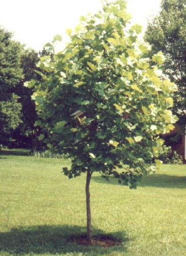
<svg viewBox="0 0 186 256"><path fill-rule="evenodd" d="M86 232L86 176L69 180L70 164L0 153L0 256L186 256L186 165L163 165L137 190L95 173L93 234L123 240L102 248L67 240Z"/></svg>

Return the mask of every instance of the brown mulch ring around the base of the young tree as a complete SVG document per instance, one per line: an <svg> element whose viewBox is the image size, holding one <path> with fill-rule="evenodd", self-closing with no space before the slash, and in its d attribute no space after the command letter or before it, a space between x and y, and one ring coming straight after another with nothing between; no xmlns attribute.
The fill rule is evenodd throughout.
<svg viewBox="0 0 186 256"><path fill-rule="evenodd" d="M86 240L86 235L76 235L71 236L68 238L69 242L74 242L78 245L86 245L88 246L88 242ZM102 247L111 247L111 246L118 246L122 245L122 241L116 239L115 237L109 236L109 235L97 235L93 236L92 244L91 245L99 245Z"/></svg>

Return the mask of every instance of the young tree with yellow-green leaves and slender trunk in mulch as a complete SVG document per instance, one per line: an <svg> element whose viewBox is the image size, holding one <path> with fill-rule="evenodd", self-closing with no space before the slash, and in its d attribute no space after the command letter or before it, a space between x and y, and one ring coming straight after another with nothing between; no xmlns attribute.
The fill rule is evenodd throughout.
<svg viewBox="0 0 186 256"><path fill-rule="evenodd" d="M97 15L81 17L67 33L63 52L41 57L44 70L34 88L38 114L48 130L48 146L72 157L69 178L86 173L87 241L92 243L89 184L93 172L136 188L142 174L156 169L158 134L175 122L169 108L176 90L157 75L161 52L150 66L149 44L138 41L141 26L128 28L126 1L105 4ZM56 39L59 39L58 37ZM52 45L51 45L52 47ZM44 135L42 136L42 138ZM42 139L41 138L41 139Z"/></svg>

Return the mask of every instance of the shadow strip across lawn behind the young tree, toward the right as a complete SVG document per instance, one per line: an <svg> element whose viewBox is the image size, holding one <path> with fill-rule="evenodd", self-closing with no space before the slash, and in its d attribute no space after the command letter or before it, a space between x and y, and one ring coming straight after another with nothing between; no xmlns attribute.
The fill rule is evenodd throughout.
<svg viewBox="0 0 186 256"><path fill-rule="evenodd" d="M92 180L97 183L108 184L108 181L101 176L93 176ZM110 184L121 186L116 179L110 179ZM166 174L151 174L143 176L138 187L165 187L165 188L186 188L186 176L171 176Z"/></svg>

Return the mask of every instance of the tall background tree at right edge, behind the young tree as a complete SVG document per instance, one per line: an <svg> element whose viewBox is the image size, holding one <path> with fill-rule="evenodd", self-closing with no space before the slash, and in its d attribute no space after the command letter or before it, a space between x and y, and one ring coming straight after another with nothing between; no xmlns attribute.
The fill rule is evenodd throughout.
<svg viewBox="0 0 186 256"><path fill-rule="evenodd" d="M186 0L162 0L160 13L149 21L145 40L152 53L162 51L166 57L163 72L178 86L174 108L179 122L186 126Z"/></svg>

